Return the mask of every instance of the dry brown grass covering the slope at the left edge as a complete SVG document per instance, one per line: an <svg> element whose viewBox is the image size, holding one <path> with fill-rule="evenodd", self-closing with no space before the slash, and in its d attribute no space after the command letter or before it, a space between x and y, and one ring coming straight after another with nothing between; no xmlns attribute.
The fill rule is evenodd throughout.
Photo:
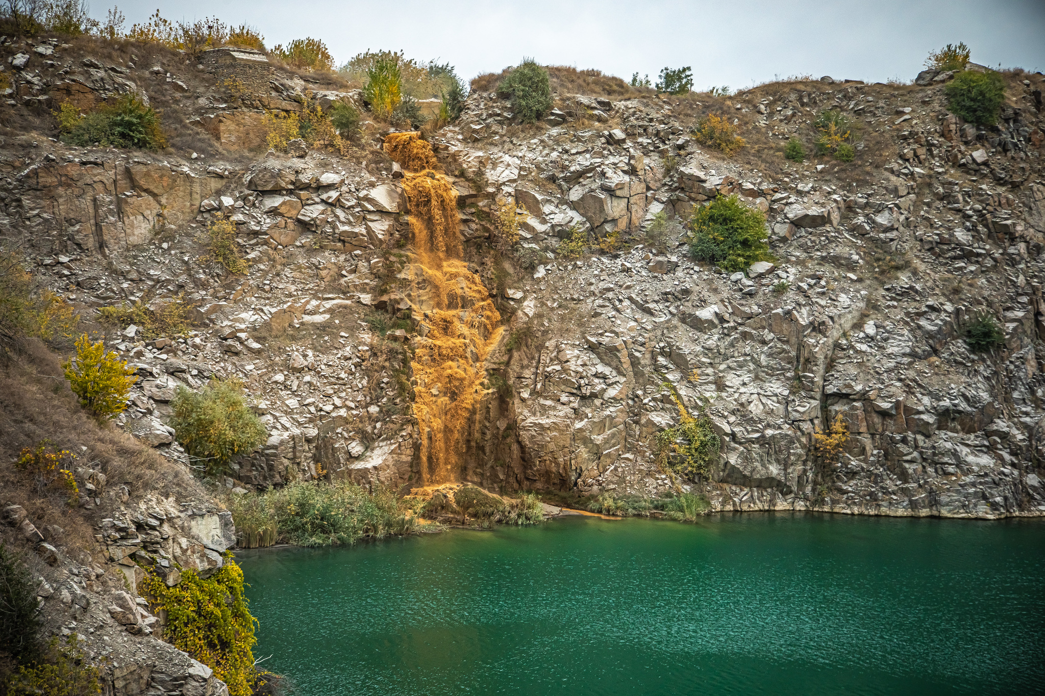
<svg viewBox="0 0 1045 696"><path fill-rule="evenodd" d="M15 470L22 448L36 447L43 439L76 455L75 466L103 473L109 489L125 485L132 495L202 495L181 465L164 459L118 426L100 425L84 411L69 389L60 361L59 355L32 339L0 367L0 502L23 506L38 527L62 527L62 541L68 548L93 547L92 525L104 515L103 509L70 507L62 491L42 497ZM102 508L104 504L102 498Z"/></svg>

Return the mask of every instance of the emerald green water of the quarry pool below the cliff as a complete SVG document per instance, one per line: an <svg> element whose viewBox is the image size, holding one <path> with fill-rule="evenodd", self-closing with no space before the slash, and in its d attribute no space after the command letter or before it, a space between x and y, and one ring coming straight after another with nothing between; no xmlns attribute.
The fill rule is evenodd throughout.
<svg viewBox="0 0 1045 696"><path fill-rule="evenodd" d="M729 514L238 556L301 696L1045 693L1045 524Z"/></svg>

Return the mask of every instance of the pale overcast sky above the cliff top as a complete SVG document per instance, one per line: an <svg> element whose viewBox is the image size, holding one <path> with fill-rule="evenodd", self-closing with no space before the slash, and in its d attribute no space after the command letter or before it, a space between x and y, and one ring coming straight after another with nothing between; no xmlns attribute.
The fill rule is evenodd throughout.
<svg viewBox="0 0 1045 696"><path fill-rule="evenodd" d="M1045 69L1045 0L136 0L120 4L125 28L157 7L169 20L247 22L269 47L322 39L339 65L402 49L449 62L465 79L533 56L654 81L665 66L692 66L698 90L803 74L910 80L930 50L959 41L976 63Z"/></svg>

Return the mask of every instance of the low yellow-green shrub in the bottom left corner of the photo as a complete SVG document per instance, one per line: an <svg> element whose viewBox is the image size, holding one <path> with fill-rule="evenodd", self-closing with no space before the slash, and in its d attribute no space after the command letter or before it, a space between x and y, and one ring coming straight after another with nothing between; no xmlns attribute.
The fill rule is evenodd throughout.
<svg viewBox="0 0 1045 696"><path fill-rule="evenodd" d="M67 635L64 646L55 635L40 659L10 675L6 696L96 696L98 669L87 661L76 633Z"/></svg>

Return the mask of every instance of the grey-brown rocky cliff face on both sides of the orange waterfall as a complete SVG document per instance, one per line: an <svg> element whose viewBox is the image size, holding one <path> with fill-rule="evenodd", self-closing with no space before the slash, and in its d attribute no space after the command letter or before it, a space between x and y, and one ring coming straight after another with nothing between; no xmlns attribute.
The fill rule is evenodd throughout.
<svg viewBox="0 0 1045 696"><path fill-rule="evenodd" d="M321 471L410 484L420 317L384 337L380 327L412 308L402 172L374 130L354 158L241 149L257 141L259 105L294 109L306 87L296 79L275 71L254 101L193 106L215 139L207 164L55 144L9 158L5 227L85 307L178 296L195 307L187 339L109 337L143 378L123 425L145 441L177 457L165 425L175 387L236 376L270 438L228 485ZM722 438L710 479L681 484L717 508L1045 512L1042 77L1008 75L990 129L947 112L946 79L780 83L712 104L769 151L838 109L865 136L849 168L726 159L694 141L689 102L559 94L524 130L508 103L473 93L428 139L459 194L465 260L507 325L486 359L491 388L469 424L463 476L504 489L666 494L675 484L652 438L678 422L668 383L688 407L706 404ZM659 250L646 238L657 213L686 220L718 194L766 214L775 263L724 273L691 261L680 230ZM507 282L487 241L494 200L525 213ZM217 213L237 225L246 278L200 261ZM571 230L629 246L566 261L557 247ZM980 312L1004 327L991 354L963 340ZM822 465L812 435L837 415L849 446Z"/></svg>

